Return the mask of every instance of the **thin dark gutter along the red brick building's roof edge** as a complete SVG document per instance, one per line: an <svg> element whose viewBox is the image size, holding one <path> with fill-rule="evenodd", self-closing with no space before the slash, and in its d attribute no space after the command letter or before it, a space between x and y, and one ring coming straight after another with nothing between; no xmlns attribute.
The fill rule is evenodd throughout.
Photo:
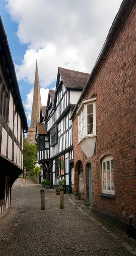
<svg viewBox="0 0 136 256"><path fill-rule="evenodd" d="M77 110L78 105L80 104L80 101L82 100L83 94L85 93L86 88L87 88L89 82L92 80L92 77L94 76L94 74L95 74L95 72L96 72L96 70L97 70L97 67L98 67L99 64L100 64L100 61L103 60L103 55L104 55L104 53L105 53L105 50L107 49L108 44L111 43L112 35L113 35L113 33L114 33L114 31L115 31L117 25L119 24L119 20L121 19L122 14L123 14L123 12L125 11L125 8L126 8L126 6L128 5L128 3L130 3L130 0L123 0L121 6L120 6L120 8L119 8L119 11L118 11L116 17L114 18L114 21L113 21L113 23L112 23L112 25L111 25L111 28L110 28L109 32L108 32L108 35L107 35L107 37L106 37L106 40L105 40L105 42L104 42L104 44L103 44L103 47L102 47L102 49L101 49L101 51L100 51L100 54L98 55L97 61L96 61L95 64L94 64L94 67L93 67L92 72L91 72L91 74L90 74L90 76L89 76L89 79L87 80L86 85L85 85L85 87L84 87L84 89L83 89L83 91L82 91L82 93L81 93L81 95L80 95L80 98L78 99L78 102L77 102L77 104L75 105L75 108L74 108L73 111L72 111L72 114L71 114L70 119L72 119L72 117L74 116L74 113L75 113L75 111Z"/></svg>

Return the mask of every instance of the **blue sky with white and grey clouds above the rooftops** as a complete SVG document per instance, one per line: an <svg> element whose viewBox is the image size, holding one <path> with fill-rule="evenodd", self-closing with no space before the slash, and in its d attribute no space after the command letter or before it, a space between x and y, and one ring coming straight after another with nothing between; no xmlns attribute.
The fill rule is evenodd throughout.
<svg viewBox="0 0 136 256"><path fill-rule="evenodd" d="M122 0L0 0L30 126L36 59L42 105L58 67L91 73Z"/></svg>

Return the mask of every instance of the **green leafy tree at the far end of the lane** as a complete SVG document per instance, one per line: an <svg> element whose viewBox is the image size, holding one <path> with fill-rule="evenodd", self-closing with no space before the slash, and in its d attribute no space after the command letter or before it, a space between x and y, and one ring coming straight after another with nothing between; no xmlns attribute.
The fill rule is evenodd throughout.
<svg viewBox="0 0 136 256"><path fill-rule="evenodd" d="M26 166L26 171L31 172L33 170L33 163L37 162L37 146L31 144L24 137L24 162L23 166Z"/></svg>

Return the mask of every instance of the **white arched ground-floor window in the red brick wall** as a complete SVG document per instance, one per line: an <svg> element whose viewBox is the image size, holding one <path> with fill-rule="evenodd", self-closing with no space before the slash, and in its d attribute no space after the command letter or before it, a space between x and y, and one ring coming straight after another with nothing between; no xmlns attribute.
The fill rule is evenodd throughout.
<svg viewBox="0 0 136 256"><path fill-rule="evenodd" d="M102 161L103 193L115 194L114 186L114 158L108 155Z"/></svg>

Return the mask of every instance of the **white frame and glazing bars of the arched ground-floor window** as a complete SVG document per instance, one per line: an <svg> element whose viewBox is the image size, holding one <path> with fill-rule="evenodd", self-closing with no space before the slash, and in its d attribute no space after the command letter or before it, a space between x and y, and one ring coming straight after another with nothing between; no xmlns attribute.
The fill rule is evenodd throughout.
<svg viewBox="0 0 136 256"><path fill-rule="evenodd" d="M103 193L105 194L111 194L111 195L115 195L115 190L111 190L111 181L114 181L114 180L111 180L111 171L114 169L111 170L111 160L114 160L114 157L112 155L108 155L106 157L103 158L102 160L102 183L105 181L106 182L106 189L103 189ZM110 162L110 190L107 189L107 164L106 162ZM103 179L103 163L105 163L105 180ZM115 185L114 185L115 186Z"/></svg>

